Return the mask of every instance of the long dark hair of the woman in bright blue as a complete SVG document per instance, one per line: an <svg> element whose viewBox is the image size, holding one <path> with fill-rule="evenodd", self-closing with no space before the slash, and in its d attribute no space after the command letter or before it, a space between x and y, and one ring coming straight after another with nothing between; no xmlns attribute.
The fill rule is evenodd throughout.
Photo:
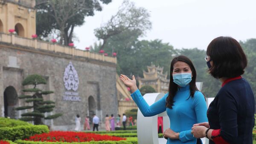
<svg viewBox="0 0 256 144"><path fill-rule="evenodd" d="M172 77L172 72L173 72L173 65L176 63L176 62L185 62L186 64L189 65L191 71L192 71L192 81L189 83L189 86L190 86L190 96L191 97L194 97L194 94L195 94L195 91L198 90L198 88L196 87L195 85L195 81L196 81L196 71L195 71L195 67L193 65L193 63L191 62L191 60L186 57L186 56L177 56L175 57L174 59L172 59L172 62L171 62L171 74L170 74L170 83L169 83L169 94L168 94L168 97L166 99L166 107L172 109L172 106L174 105L174 96L175 94L177 93L177 90L178 90L178 85L175 84L175 82L173 82L173 77ZM189 96L189 97L190 97ZM188 99L189 99L188 97Z"/></svg>

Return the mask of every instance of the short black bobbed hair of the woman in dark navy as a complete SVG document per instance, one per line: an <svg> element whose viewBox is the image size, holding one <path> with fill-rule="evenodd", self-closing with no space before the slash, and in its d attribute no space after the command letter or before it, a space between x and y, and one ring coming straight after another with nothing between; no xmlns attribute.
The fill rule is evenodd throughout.
<svg viewBox="0 0 256 144"><path fill-rule="evenodd" d="M238 41L232 37L217 37L207 47L212 60L209 73L216 79L232 78L244 74L247 58Z"/></svg>

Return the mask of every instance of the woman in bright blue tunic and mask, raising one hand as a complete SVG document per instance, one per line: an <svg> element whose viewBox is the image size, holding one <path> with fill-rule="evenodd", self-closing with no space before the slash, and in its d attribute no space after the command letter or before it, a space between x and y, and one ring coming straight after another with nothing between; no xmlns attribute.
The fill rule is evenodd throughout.
<svg viewBox="0 0 256 144"><path fill-rule="evenodd" d="M196 88L195 67L186 56L177 56L171 62L169 93L151 106L145 102L136 86L136 80L122 75L120 79L131 88L131 97L144 116L155 116L164 111L170 119L170 128L163 136L167 144L201 144L191 133L195 123L207 121L204 95Z"/></svg>

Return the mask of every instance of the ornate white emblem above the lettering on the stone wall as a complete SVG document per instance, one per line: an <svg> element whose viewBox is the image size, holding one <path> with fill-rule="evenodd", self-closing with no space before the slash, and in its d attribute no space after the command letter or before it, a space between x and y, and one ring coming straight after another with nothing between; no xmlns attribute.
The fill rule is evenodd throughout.
<svg viewBox="0 0 256 144"><path fill-rule="evenodd" d="M67 90L74 90L78 89L79 79L76 69L74 68L72 62L67 65L65 68L64 76L63 76L64 86Z"/></svg>

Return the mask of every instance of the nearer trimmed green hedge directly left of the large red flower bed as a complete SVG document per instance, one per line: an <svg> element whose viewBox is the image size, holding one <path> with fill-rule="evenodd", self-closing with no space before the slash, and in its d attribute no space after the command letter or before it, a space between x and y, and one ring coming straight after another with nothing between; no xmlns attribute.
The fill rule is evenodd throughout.
<svg viewBox="0 0 256 144"><path fill-rule="evenodd" d="M49 133L46 125L23 125L17 127L0 127L0 139L15 141L29 138L35 134Z"/></svg>

